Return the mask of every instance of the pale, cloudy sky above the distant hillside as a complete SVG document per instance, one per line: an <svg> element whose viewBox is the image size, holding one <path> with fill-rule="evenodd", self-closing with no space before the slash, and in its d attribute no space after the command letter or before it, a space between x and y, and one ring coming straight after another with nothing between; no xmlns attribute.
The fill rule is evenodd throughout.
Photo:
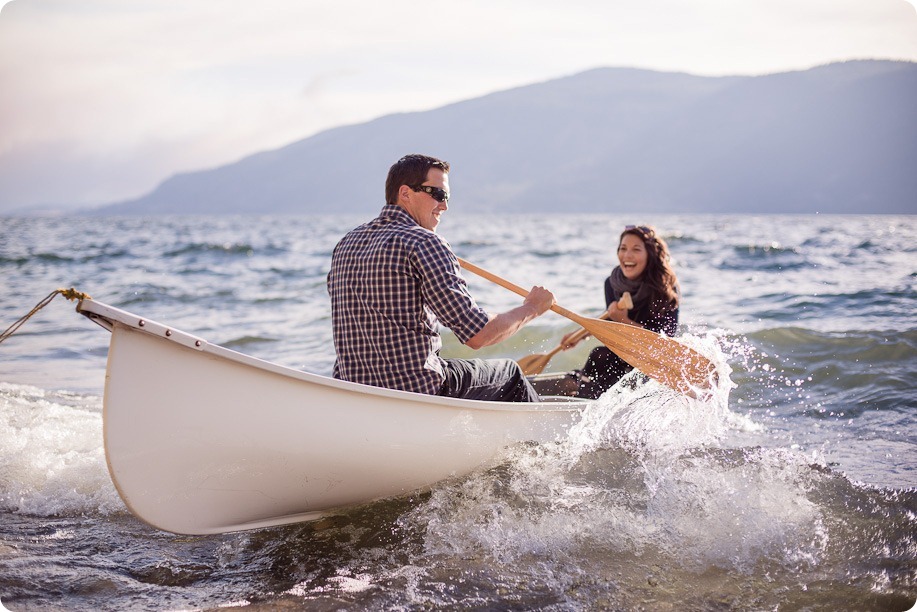
<svg viewBox="0 0 917 612"><path fill-rule="evenodd" d="M592 68L917 61L915 3L0 1L0 214L127 200L339 125Z"/></svg>

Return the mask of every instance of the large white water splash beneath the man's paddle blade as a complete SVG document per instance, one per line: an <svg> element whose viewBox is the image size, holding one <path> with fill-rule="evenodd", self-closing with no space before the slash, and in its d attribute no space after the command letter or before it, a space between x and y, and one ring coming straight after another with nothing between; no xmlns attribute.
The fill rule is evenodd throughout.
<svg viewBox="0 0 917 612"><path fill-rule="evenodd" d="M685 341L714 355L720 385L693 398L631 373L563 443L517 447L434 490L405 519L425 526L427 553L501 565L634 557L699 572L817 564L827 535L808 492L819 472L798 453L719 446L753 424L729 409L720 339Z"/></svg>

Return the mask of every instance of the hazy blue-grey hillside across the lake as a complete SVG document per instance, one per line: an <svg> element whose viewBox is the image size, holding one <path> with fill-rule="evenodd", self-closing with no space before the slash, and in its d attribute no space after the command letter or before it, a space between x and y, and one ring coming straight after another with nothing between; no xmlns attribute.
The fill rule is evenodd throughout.
<svg viewBox="0 0 917 612"><path fill-rule="evenodd" d="M917 213L917 64L601 68L331 129L93 212L374 213L413 152L452 164L468 212Z"/></svg>

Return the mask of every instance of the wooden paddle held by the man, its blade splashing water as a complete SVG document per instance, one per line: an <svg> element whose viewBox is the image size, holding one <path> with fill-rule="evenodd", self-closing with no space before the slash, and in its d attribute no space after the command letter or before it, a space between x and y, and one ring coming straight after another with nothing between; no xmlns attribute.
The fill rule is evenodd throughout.
<svg viewBox="0 0 917 612"><path fill-rule="evenodd" d="M486 278L525 297L528 291L464 259L459 264L469 272ZM621 359L650 378L689 395L697 388L708 389L716 367L713 363L677 340L634 325L583 317L555 304L551 310L581 325Z"/></svg>

